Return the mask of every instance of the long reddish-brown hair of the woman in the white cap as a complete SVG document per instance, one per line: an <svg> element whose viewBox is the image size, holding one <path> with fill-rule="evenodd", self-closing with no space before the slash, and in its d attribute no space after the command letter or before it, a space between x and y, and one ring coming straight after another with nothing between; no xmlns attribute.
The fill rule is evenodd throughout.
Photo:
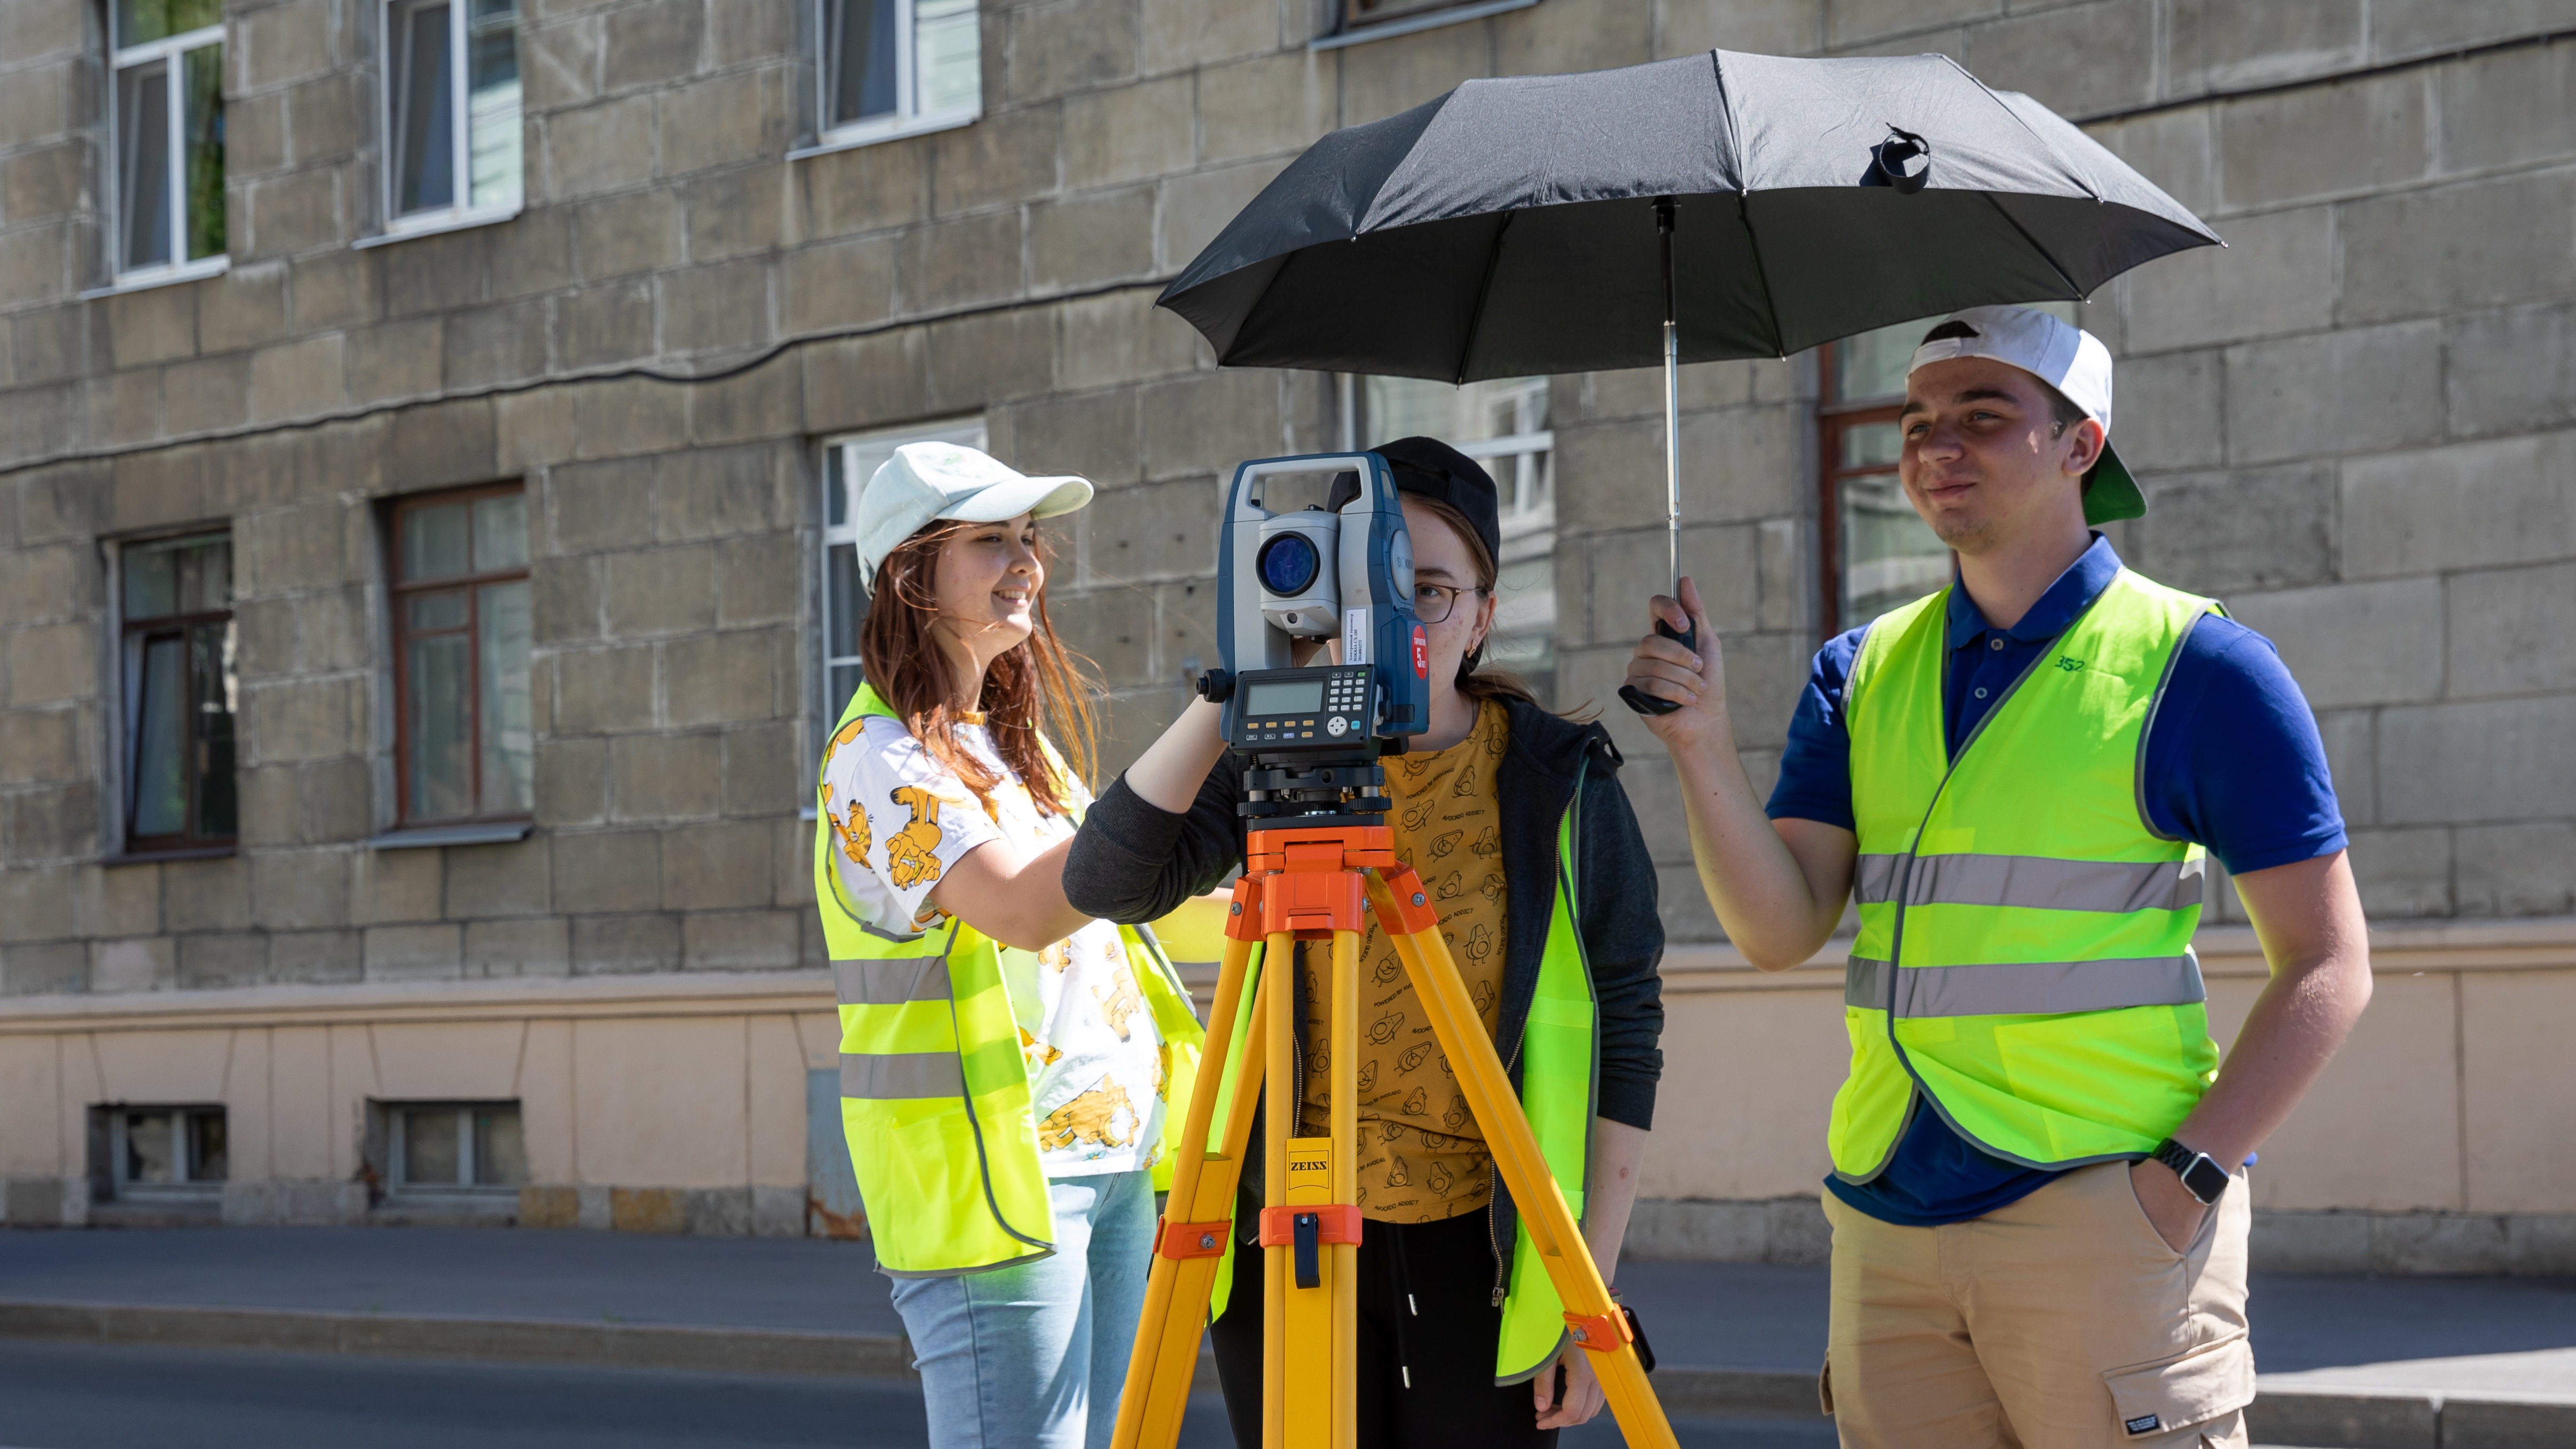
<svg viewBox="0 0 2576 1449"><path fill-rule="evenodd" d="M956 659L930 633L940 613L940 548L969 528L992 525L933 522L886 553L886 561L876 566L868 623L860 625L858 664L878 697L904 718L912 739L922 741L922 749L953 770L989 808L999 777L956 741L961 721L951 700L963 679ZM1051 553L1041 533L1038 558L1051 564ZM976 710L984 713L984 728L1002 764L1010 764L1020 785L1028 785L1028 795L1041 811L1061 816L1072 811L1072 782L1056 777L1056 764L1046 757L1046 739L1054 736L1056 746L1069 754L1066 764L1079 780L1092 777L1100 752L1090 659L1064 649L1056 638L1056 625L1046 618L1043 579L1028 607L1036 628L984 669Z"/></svg>

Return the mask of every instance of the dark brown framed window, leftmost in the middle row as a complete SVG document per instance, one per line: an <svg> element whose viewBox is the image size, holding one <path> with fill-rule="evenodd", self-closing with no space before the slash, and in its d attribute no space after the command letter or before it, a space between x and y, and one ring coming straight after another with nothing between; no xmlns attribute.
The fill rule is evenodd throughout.
<svg viewBox="0 0 2576 1449"><path fill-rule="evenodd" d="M234 677L232 535L118 551L126 854L229 849Z"/></svg>

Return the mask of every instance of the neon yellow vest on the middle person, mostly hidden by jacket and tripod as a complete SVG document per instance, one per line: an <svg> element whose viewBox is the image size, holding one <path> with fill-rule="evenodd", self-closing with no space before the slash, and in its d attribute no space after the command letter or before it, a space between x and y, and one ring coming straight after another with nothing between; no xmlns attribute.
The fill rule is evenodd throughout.
<svg viewBox="0 0 2576 1449"><path fill-rule="evenodd" d="M1600 1006L1592 999L1592 968L1584 960L1584 937L1574 911L1574 839L1584 806L1582 764L1574 775L1574 800L1556 826L1556 903L1548 911L1548 945L1538 957L1538 993L1530 999L1530 1019L1520 1042L1497 1042L1504 1068L1520 1060L1520 1109L1538 1135L1538 1150L1548 1158L1548 1176L1577 1220L1584 1215L1587 1163L1592 1156L1592 1104L1600 1086ZM1234 1045L1218 1068L1216 1117L1208 1130L1208 1150L1221 1150L1234 1089L1242 1081L1242 1042L1252 1014L1252 991L1260 986L1262 952L1252 952L1252 973L1244 981ZM1180 1102L1175 1096L1175 1102ZM1244 1225L1236 1223L1236 1238ZM1502 1302L1502 1338L1494 1346L1494 1382L1517 1385L1546 1369L1566 1346L1566 1305L1548 1282L1546 1264L1530 1243L1530 1225L1522 1220L1512 1241L1510 1292ZM1216 1287L1208 1295L1208 1318L1226 1313L1234 1287L1234 1256L1216 1264Z"/></svg>

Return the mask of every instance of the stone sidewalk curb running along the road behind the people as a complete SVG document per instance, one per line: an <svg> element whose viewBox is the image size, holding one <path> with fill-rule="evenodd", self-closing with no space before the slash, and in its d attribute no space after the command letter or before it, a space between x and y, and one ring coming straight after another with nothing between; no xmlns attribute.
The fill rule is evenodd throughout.
<svg viewBox="0 0 2576 1449"><path fill-rule="evenodd" d="M0 1302L0 1338L155 1349L247 1349L358 1359L564 1364L696 1374L909 1380L896 1333L440 1318L291 1307ZM1198 1392L1216 1392L1206 1349ZM1664 1410L1687 1418L1821 1418L1816 1374L1664 1367ZM2246 1410L2257 1441L2308 1449L2558 1449L2576 1444L2576 1403L2506 1403L2424 1392L2264 1392Z"/></svg>

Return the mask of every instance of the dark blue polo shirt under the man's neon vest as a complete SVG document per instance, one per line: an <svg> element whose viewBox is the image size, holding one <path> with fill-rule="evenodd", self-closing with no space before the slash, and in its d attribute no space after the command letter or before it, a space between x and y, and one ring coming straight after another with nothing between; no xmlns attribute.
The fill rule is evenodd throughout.
<svg viewBox="0 0 2576 1449"><path fill-rule="evenodd" d="M1950 661L1942 728L1950 754L2120 571L2099 533L2012 628L1994 628L1968 589L1950 589ZM1842 685L1870 625L1816 651L1780 752L1770 816L1852 829L1852 728ZM2146 736L2146 813L2169 836L2200 842L2231 875L2344 849L2344 816L2326 772L2316 715L2272 641L2228 618L2202 618L2164 687ZM1937 1112L1917 1107L1886 1171L1824 1186L1883 1223L1935 1228L1984 1217L2053 1176L1971 1148Z"/></svg>

